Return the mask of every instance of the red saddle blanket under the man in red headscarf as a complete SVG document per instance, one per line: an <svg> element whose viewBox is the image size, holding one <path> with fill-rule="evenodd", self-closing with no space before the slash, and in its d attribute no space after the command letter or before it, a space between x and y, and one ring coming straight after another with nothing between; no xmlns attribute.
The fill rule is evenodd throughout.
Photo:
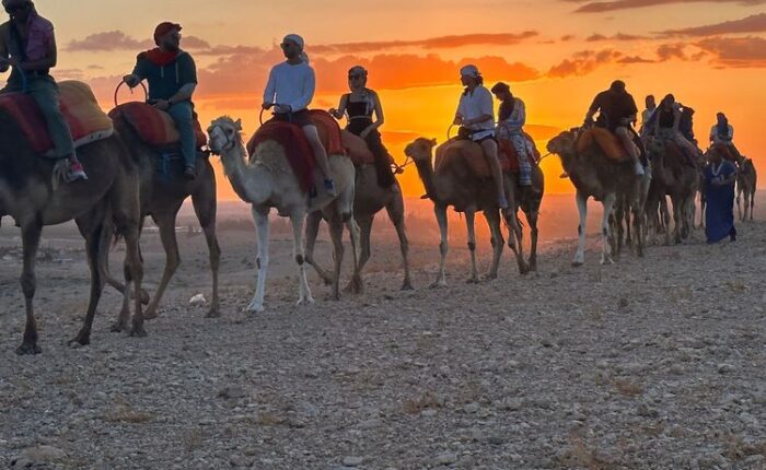
<svg viewBox="0 0 766 470"><path fill-rule="evenodd" d="M124 118L132 127L142 141L150 145L166 146L178 143L181 136L167 113L142 102L125 103L109 111L112 119ZM208 143L208 137L202 132L197 116L194 117L194 133L197 137L197 149Z"/></svg>

